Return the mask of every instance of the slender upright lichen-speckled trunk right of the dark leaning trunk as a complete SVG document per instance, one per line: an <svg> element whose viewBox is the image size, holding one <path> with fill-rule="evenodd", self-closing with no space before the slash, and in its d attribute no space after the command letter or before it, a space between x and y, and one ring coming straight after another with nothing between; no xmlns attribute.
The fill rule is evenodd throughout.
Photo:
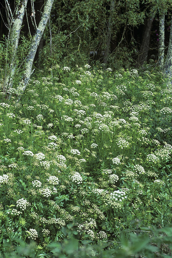
<svg viewBox="0 0 172 258"><path fill-rule="evenodd" d="M163 70L164 67L164 20L165 12L159 13L159 68Z"/></svg>

